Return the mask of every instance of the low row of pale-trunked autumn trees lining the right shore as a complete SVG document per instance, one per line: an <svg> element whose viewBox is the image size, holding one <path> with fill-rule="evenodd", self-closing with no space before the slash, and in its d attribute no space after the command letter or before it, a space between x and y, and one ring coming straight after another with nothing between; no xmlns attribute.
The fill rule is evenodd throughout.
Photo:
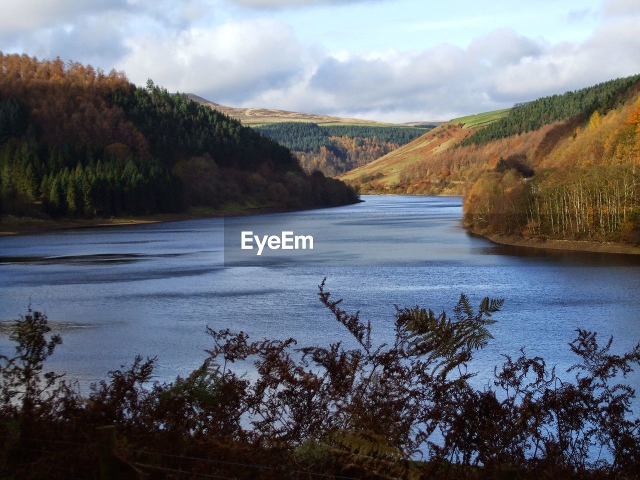
<svg viewBox="0 0 640 480"><path fill-rule="evenodd" d="M465 200L474 230L551 239L640 244L640 167L598 165L484 174Z"/></svg>

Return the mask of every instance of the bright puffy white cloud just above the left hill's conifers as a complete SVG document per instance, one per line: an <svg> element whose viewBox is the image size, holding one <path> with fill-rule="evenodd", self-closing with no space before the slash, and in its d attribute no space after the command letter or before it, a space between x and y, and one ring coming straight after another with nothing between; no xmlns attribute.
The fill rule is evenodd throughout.
<svg viewBox="0 0 640 480"><path fill-rule="evenodd" d="M118 62L136 83L152 77L170 90L241 102L255 92L287 88L301 74L304 53L290 28L275 20L228 21L143 35L126 42Z"/></svg>

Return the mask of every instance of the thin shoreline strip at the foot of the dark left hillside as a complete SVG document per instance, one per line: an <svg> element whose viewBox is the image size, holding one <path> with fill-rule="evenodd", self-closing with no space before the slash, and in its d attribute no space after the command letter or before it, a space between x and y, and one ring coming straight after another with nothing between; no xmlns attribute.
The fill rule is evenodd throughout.
<svg viewBox="0 0 640 480"><path fill-rule="evenodd" d="M360 200L364 202L364 200ZM355 202L355 203L360 203ZM333 205L334 207L343 205ZM305 207L305 208L285 208L285 207L247 207L229 210L214 209L193 209L180 213L157 213L153 215L141 215L122 218L64 218L61 220L44 220L38 218L20 218L10 215L2 217L0 222L0 237L42 234L56 230L72 230L76 228L102 228L102 227L122 227L127 225L144 225L146 223L168 223L171 221L201 220L203 218L223 218L227 216L261 215L268 213L285 213L319 208L332 207Z"/></svg>

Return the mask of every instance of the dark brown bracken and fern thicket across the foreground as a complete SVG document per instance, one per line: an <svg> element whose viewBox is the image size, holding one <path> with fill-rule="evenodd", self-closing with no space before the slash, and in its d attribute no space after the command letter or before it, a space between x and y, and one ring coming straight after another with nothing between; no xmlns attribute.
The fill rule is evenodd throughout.
<svg viewBox="0 0 640 480"><path fill-rule="evenodd" d="M156 360L138 356L84 394L47 371L62 339L29 309L10 325L15 353L0 354L0 474L97 478L102 465L122 480L638 478L635 392L623 378L640 344L618 355L612 339L577 330L565 374L522 348L477 389L468 365L493 338L502 300L474 309L461 295L451 316L396 307L393 339L380 344L324 281L319 298L348 343L300 348L207 328L208 355L188 376L159 383ZM118 436L108 448L105 426Z"/></svg>

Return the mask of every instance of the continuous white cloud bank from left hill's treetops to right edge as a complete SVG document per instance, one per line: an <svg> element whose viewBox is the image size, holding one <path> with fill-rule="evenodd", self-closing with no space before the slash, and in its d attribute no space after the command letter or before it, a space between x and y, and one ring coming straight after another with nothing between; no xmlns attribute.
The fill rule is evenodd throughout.
<svg viewBox="0 0 640 480"><path fill-rule="evenodd" d="M640 72L636 25L631 17L612 19L582 43L549 44L498 29L465 48L333 55L311 51L282 22L227 22L134 38L118 68L138 83L150 76L232 106L447 120Z"/></svg>

